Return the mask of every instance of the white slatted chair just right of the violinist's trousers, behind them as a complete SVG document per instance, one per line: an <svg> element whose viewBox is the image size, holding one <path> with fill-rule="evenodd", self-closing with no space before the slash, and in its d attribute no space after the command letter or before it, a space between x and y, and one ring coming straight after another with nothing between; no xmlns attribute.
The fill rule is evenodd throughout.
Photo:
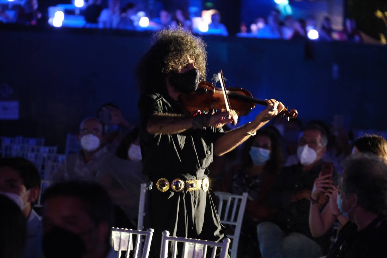
<svg viewBox="0 0 387 258"><path fill-rule="evenodd" d="M231 258L236 258L248 193L233 195L225 192L214 192L214 194L219 198L217 212L221 223L230 225L233 228L234 234L227 234L227 236L232 239L231 248L229 250Z"/></svg>

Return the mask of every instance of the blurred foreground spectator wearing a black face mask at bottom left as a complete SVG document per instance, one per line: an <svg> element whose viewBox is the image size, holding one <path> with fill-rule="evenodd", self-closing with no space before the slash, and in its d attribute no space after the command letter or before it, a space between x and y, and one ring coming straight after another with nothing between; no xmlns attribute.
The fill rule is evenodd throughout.
<svg viewBox="0 0 387 258"><path fill-rule="evenodd" d="M95 183L67 182L43 195L45 258L113 258L113 203Z"/></svg>

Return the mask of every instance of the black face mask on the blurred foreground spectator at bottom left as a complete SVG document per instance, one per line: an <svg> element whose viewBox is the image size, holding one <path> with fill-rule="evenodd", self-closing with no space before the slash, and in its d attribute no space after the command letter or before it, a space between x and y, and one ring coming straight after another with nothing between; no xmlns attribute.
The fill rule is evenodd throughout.
<svg viewBox="0 0 387 258"><path fill-rule="evenodd" d="M81 258L86 253L82 238L60 227L43 234L42 244L45 258Z"/></svg>

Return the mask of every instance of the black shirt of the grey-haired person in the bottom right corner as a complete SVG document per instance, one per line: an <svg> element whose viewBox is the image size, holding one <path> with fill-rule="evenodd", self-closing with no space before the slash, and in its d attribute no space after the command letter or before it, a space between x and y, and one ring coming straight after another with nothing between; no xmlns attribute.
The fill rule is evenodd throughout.
<svg viewBox="0 0 387 258"><path fill-rule="evenodd" d="M379 258L387 257L387 219L381 215L362 231L348 221L342 227L327 258Z"/></svg>

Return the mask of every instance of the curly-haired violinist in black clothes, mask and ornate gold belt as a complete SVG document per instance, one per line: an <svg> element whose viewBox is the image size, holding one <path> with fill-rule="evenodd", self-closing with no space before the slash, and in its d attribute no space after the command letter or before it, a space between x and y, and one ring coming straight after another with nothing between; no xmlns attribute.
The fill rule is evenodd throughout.
<svg viewBox="0 0 387 258"><path fill-rule="evenodd" d="M186 111L179 96L197 89L205 79L206 63L204 41L176 29L156 32L137 67L143 173L150 181L145 226L154 229L154 239L160 239L163 230L211 241L225 237L209 193L207 167L213 155L235 149L284 109L281 102L267 100L255 120L228 132L222 126L236 124L235 110L194 115ZM159 254L160 241L153 241L150 257Z"/></svg>

